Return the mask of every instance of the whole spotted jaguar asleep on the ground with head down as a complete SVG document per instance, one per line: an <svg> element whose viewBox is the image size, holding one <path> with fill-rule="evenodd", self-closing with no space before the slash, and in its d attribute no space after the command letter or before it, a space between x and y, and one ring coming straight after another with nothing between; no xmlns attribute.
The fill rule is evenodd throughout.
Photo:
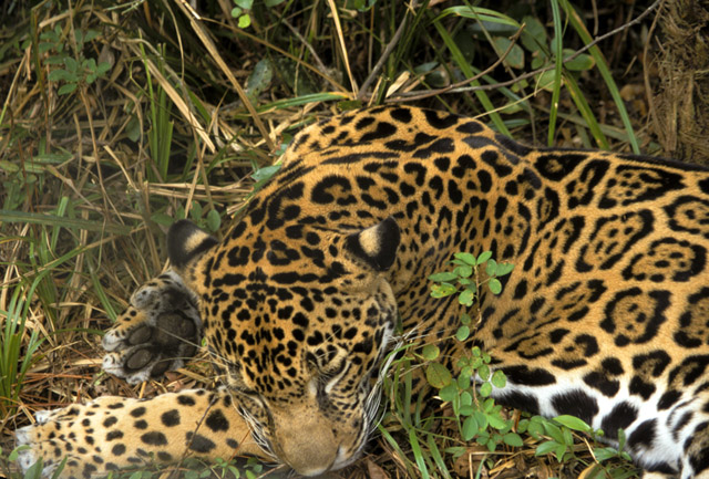
<svg viewBox="0 0 709 479"><path fill-rule="evenodd" d="M38 412L17 431L21 462L50 475L68 457L76 478L237 454L343 468L376 427L400 321L442 357L490 352L499 402L612 442L623 429L648 473L709 478L708 249L705 167L534 148L431 110L348 112L294 139L223 240L176 222L172 270L103 337L104 369L130 383L204 337L223 385ZM467 342L446 340L464 306L430 294L459 251L515 265L481 294Z"/></svg>

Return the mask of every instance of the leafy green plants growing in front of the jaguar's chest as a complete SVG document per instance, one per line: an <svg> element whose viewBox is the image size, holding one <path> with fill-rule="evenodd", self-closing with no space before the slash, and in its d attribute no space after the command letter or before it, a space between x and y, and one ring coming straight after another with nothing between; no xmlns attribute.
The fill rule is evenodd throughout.
<svg viewBox="0 0 709 479"><path fill-rule="evenodd" d="M429 278L434 283L431 295L455 295L462 305L469 308L476 304L483 288L492 294L500 294L502 284L499 278L514 268L510 263L497 263L490 251L477 258L466 252L456 253L451 264L454 267L451 271ZM481 321L480 308L471 309L474 310L479 311L476 319L463 313L456 332L442 341L470 343ZM458 357L454 367L439 360L441 350L436 343L429 343L420 351L415 347L407 350L403 358L390 366L392 372L384 383L391 407L388 418L380 425L380 433L405 458L403 464L409 476L453 477L451 464L462 470L467 466L467 475L461 473L462 470L455 471L460 476L492 476L495 470L511 468L505 456L514 455L520 448L527 448L535 457L553 456L558 464L574 464L578 476L588 479L625 479L637 475L629 465L629 455L623 450L625 433L621 429L617 431L619 444L616 449L598 441L604 436L603 430L595 430L577 417L562 415L547 419L521 412L511 414L496 404L493 393L505 387L506 377L501 369L492 368L491 355L479 346L467 348ZM424 365L425 379L438 392L436 397L441 402L438 415L425 415L430 404L412 394L417 363ZM403 454L399 441L391 435L392 424L408 437L410 455ZM579 434L583 446L578 440Z"/></svg>

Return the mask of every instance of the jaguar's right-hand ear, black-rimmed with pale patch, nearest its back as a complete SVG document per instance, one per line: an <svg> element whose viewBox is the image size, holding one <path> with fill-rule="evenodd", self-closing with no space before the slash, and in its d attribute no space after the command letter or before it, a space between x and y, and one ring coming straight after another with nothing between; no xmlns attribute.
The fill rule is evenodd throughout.
<svg viewBox="0 0 709 479"><path fill-rule="evenodd" d="M387 271L397 259L401 232L397 221L389 217L373 227L349 235L345 248L376 271Z"/></svg>

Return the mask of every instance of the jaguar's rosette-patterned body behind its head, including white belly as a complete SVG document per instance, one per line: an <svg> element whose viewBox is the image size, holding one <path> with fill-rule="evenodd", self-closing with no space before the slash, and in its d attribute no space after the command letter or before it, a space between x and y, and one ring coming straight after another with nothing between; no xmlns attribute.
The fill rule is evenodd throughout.
<svg viewBox="0 0 709 479"><path fill-rule="evenodd" d="M461 306L431 298L428 275L456 251L491 250L515 264L502 295L483 295L474 337L507 375L496 396L575 415L609 439L624 428L647 469L707 473L705 168L527 148L481 123L409 108L311 128L289 158L287 170L318 165L310 191L327 194L304 198L336 212L329 226L394 218L401 243L388 281L404 330L452 335ZM362 211L337 206L347 198Z"/></svg>

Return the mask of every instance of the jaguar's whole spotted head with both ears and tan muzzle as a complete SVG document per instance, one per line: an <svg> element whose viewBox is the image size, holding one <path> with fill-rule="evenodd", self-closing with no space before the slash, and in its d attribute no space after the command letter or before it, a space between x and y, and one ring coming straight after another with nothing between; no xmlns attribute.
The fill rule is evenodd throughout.
<svg viewBox="0 0 709 479"><path fill-rule="evenodd" d="M388 277L399 227L250 225L219 244L179 221L171 261L199 296L205 336L254 437L300 475L339 469L374 426L373 384L397 320Z"/></svg>

